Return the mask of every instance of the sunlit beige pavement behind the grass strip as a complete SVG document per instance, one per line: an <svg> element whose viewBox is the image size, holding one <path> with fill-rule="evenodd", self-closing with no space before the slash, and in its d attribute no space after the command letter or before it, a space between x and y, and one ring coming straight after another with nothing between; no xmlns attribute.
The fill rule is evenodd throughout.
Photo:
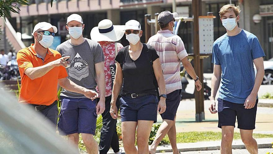
<svg viewBox="0 0 273 154"><path fill-rule="evenodd" d="M217 103L217 102L216 102ZM204 101L205 120L203 122L195 122L195 100L182 100L177 110L176 130L177 132L192 132L192 131L213 131L221 132L218 128L218 114L211 114L208 110L210 105L209 100ZM217 105L216 105L217 107ZM162 122L161 116L157 116L158 123ZM273 108L258 107L256 115L256 128L253 133L272 134L273 133ZM236 121L235 132L240 132L237 128Z"/></svg>

